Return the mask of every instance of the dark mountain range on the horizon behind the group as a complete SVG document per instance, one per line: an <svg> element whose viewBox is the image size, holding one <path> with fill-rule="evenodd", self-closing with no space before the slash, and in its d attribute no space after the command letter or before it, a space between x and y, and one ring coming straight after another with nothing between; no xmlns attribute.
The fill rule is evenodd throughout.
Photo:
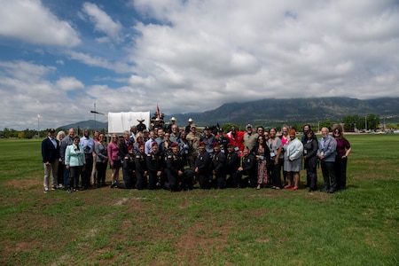
<svg viewBox="0 0 399 266"><path fill-rule="evenodd" d="M264 98L243 103L227 103L202 113L173 113L165 115L165 121L175 117L179 126L192 120L199 126L238 124L276 126L280 124L317 123L317 121L340 121L347 115L364 117L373 113L385 120L399 121L399 98ZM60 127L107 129L106 122L80 121Z"/></svg>

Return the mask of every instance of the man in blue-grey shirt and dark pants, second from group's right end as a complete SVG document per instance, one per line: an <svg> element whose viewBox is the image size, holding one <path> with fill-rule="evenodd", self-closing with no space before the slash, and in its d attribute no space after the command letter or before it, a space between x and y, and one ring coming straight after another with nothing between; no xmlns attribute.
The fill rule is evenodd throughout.
<svg viewBox="0 0 399 266"><path fill-rule="evenodd" d="M323 178L325 180L325 187L322 189L322 192L333 193L337 189L337 178L334 170L337 142L332 136L328 135L327 128L321 129L321 132L322 137L318 141L317 157L321 161Z"/></svg>

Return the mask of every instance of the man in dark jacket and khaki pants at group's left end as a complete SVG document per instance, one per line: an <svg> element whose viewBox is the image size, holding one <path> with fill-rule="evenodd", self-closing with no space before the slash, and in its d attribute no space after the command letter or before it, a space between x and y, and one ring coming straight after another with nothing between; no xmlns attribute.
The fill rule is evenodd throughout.
<svg viewBox="0 0 399 266"><path fill-rule="evenodd" d="M44 166L44 193L49 192L50 175L52 174L51 190L57 190L57 172L59 166L59 142L54 138L55 129L50 129L48 137L42 142L42 157Z"/></svg>

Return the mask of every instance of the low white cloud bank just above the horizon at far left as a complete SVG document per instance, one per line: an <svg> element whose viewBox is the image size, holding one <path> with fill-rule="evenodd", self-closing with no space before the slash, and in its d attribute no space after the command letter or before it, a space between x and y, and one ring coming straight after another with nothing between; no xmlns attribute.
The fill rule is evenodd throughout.
<svg viewBox="0 0 399 266"><path fill-rule="evenodd" d="M0 106L4 118L0 127L37 129L38 113L42 116L42 129L90 119L92 98L85 93L71 97L67 91L68 86L82 88L82 83L68 77L54 84L48 78L55 70L53 66L23 61L0 61Z"/></svg>

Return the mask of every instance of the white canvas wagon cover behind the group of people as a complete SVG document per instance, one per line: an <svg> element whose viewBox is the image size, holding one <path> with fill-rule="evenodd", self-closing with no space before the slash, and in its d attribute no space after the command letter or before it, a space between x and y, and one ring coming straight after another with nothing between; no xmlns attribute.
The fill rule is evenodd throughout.
<svg viewBox="0 0 399 266"><path fill-rule="evenodd" d="M145 119L143 123L148 129L150 126L150 111L108 113L108 134L121 134L124 130L130 130L130 127L137 125L137 120L140 119Z"/></svg>

